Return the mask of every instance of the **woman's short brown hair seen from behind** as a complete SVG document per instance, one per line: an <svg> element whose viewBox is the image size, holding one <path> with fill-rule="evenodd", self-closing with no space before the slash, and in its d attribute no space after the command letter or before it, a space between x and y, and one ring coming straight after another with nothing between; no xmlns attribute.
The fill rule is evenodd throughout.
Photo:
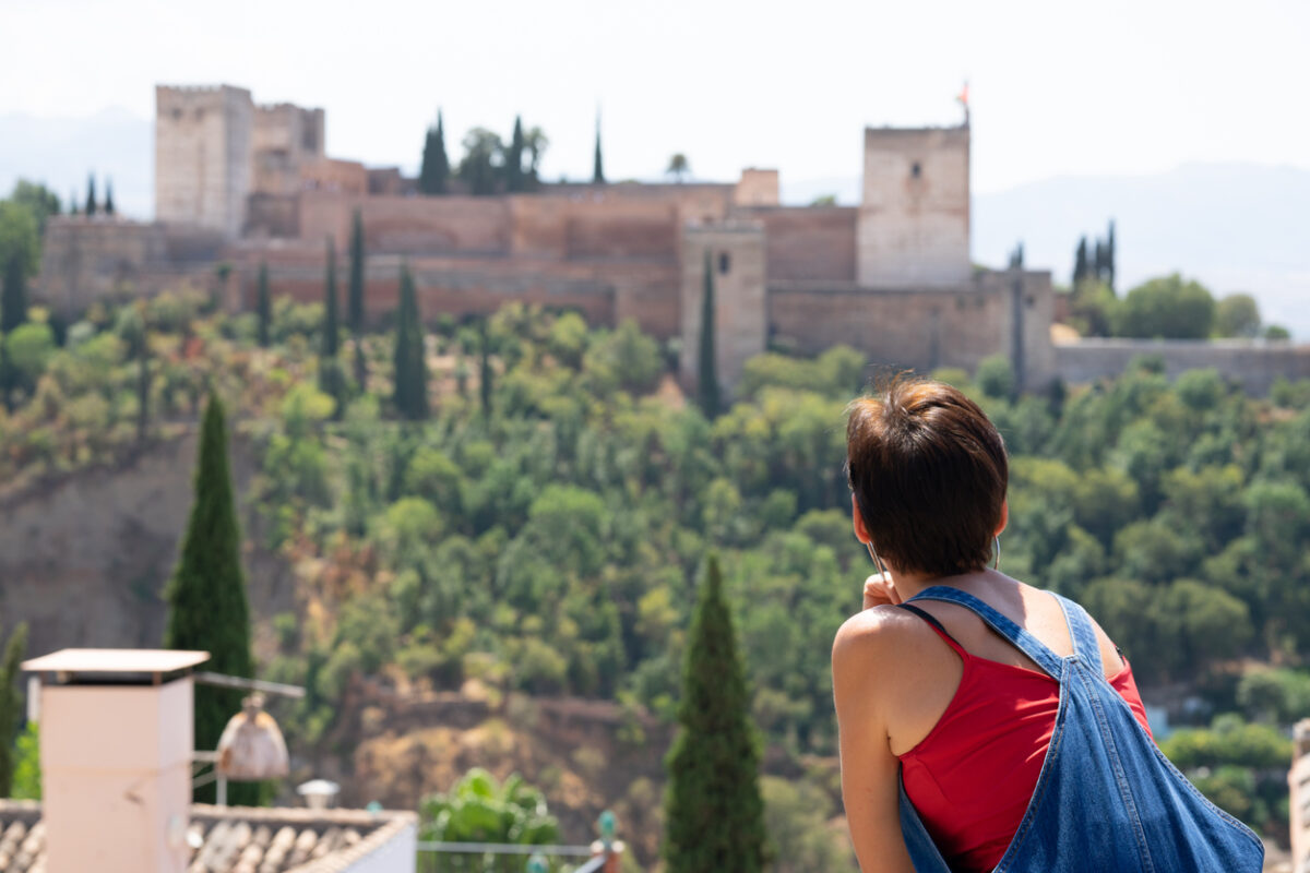
<svg viewBox="0 0 1310 873"><path fill-rule="evenodd" d="M899 376L848 412L846 476L878 555L934 576L985 567L1010 465L977 403Z"/></svg>

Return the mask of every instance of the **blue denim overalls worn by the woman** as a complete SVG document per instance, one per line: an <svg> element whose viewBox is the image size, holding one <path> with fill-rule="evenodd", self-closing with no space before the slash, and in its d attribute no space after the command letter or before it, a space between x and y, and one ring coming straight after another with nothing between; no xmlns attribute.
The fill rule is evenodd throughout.
<svg viewBox="0 0 1310 873"><path fill-rule="evenodd" d="M1010 847L993 873L1258 873L1259 838L1178 772L1106 681L1087 614L1055 596L1073 654L962 590L934 586L912 599L964 606L1060 682L1051 747ZM900 789L900 821L917 873L950 873Z"/></svg>

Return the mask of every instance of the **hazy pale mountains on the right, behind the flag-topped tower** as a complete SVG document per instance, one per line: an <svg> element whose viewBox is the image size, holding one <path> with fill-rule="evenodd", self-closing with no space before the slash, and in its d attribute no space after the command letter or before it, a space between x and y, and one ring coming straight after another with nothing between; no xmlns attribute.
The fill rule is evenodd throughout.
<svg viewBox="0 0 1310 873"><path fill-rule="evenodd" d="M806 204L834 194L859 203L858 178L783 186ZM1250 292L1268 322L1310 339L1310 170L1252 164L1188 164L1158 175L1060 177L973 198L973 260L1006 263L1023 241L1030 267L1068 283L1082 234L1115 219L1124 291L1180 271L1216 294Z"/></svg>

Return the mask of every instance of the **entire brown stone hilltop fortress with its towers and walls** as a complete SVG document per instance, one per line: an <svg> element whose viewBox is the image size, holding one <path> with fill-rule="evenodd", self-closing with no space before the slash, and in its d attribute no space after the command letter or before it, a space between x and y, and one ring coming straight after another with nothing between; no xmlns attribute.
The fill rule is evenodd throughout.
<svg viewBox="0 0 1310 873"><path fill-rule="evenodd" d="M1027 389L1114 372L1134 353L1124 342L1056 347L1048 271L972 264L967 120L866 128L858 207L781 205L772 169L743 170L732 183L423 196L397 168L328 157L324 122L321 109L261 106L241 88L159 86L156 220L54 219L42 297L75 315L106 296L211 285L227 263L233 309L254 308L261 264L274 294L317 301L326 240L345 253L358 209L372 317L397 306L407 262L427 317L523 301L578 310L592 325L634 318L654 336L683 338L686 380L706 263L727 386L770 343L804 352L846 343L874 364L921 372L973 370L1001 353ZM1213 344L1192 346L1193 357L1216 355ZM1275 372L1310 374L1305 356L1243 348L1199 363L1244 368L1258 390Z"/></svg>

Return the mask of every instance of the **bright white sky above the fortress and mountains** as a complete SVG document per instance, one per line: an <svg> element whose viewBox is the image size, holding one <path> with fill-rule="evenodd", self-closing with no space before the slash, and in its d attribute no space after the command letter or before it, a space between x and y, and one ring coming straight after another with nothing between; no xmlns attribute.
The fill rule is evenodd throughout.
<svg viewBox="0 0 1310 873"><path fill-rule="evenodd" d="M514 118L542 173L744 166L861 173L866 124L952 124L969 82L973 191L1191 162L1310 169L1310 3L3 0L0 116L153 118L156 84L328 111L334 157L414 171ZM93 144L88 144L93 149ZM93 158L88 157L88 164ZM3 168L0 168L3 169Z"/></svg>

